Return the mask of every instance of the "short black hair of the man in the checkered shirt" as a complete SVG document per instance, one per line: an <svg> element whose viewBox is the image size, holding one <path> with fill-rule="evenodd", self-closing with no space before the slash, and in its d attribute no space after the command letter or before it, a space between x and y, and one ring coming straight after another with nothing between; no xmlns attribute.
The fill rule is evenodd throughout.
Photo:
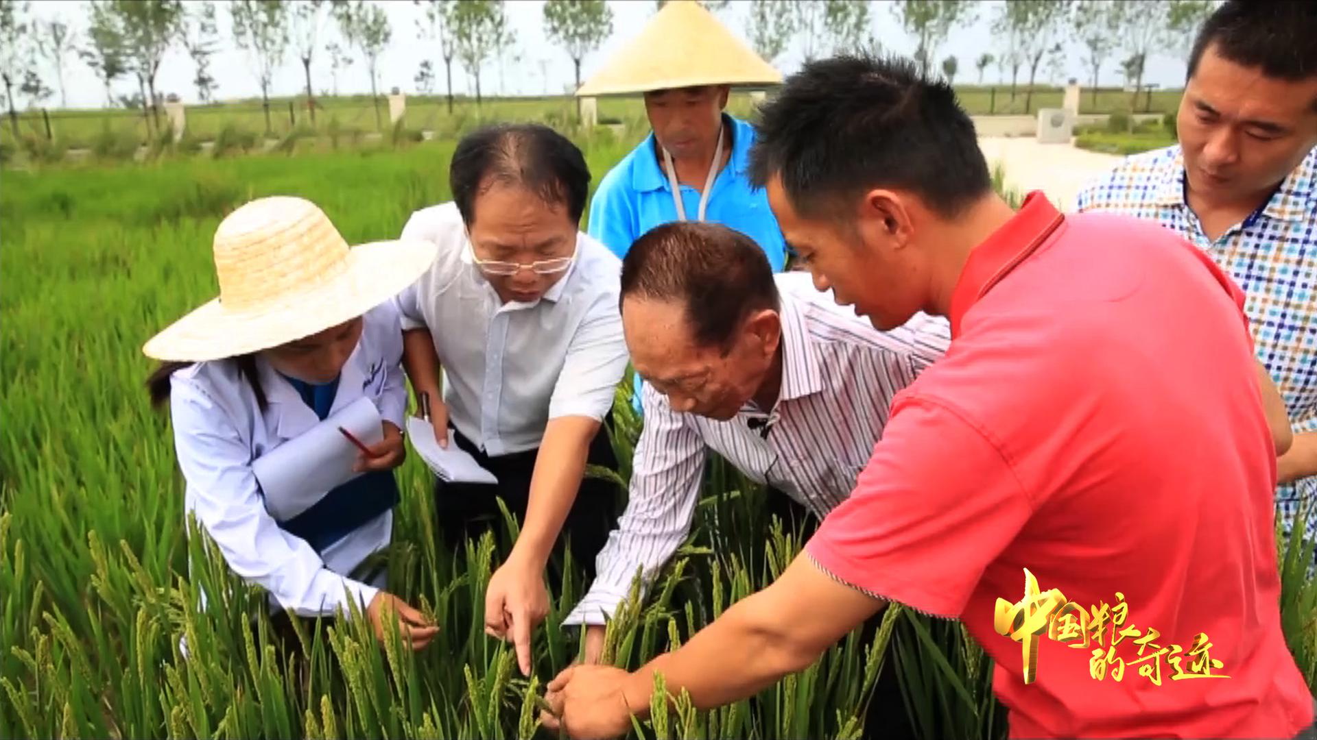
<svg viewBox="0 0 1317 740"><path fill-rule="evenodd" d="M1187 78L1193 78L1209 46L1268 78L1299 82L1317 76L1317 3L1227 0L1198 29Z"/></svg>

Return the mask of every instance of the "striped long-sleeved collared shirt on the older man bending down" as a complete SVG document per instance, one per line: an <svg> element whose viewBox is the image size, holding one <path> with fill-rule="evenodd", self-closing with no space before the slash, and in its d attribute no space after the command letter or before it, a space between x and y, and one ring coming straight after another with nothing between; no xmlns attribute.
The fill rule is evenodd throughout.
<svg viewBox="0 0 1317 740"><path fill-rule="evenodd" d="M603 624L685 541L714 450L747 478L823 517L840 504L882 435L892 398L951 341L947 323L919 315L878 332L818 292L803 273L776 277L781 295L782 383L768 413L743 408L716 421L678 413L648 383L631 495L597 561L598 577L564 624Z"/></svg>

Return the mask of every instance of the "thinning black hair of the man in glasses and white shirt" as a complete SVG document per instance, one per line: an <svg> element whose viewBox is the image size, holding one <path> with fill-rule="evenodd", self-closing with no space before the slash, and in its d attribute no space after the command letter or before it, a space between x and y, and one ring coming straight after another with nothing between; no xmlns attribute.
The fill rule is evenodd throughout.
<svg viewBox="0 0 1317 740"><path fill-rule="evenodd" d="M581 149L543 124L495 124L457 144L448 166L453 201L468 225L475 196L494 183L519 184L545 203L561 203L577 224L590 194L590 167Z"/></svg>

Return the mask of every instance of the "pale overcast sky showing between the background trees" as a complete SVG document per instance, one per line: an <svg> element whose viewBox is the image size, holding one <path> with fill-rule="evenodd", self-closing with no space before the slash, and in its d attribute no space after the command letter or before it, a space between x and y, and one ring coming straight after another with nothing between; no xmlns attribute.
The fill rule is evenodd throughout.
<svg viewBox="0 0 1317 740"><path fill-rule="evenodd" d="M444 88L443 59L439 58L439 51L433 43L420 41L416 36L416 22L421 17L421 9L408 0L377 1L386 8L392 25L392 42L383 54L379 65L381 92L395 86L400 87L404 92L415 91L416 84L414 78L421 61L427 58L432 59L436 65L436 91L441 92ZM191 5L192 3L186 1L184 4ZM994 45L990 29L992 18L996 16L997 5L1000 4L997 0L979 3L976 22L954 30L947 43L936 51L936 59L939 61L950 54L955 54L959 58L960 72L957 74L957 79L965 82L976 80L977 71L973 67L973 61L985 51L992 54L1000 51ZM220 38L230 40L228 9L224 7L223 0L219 5ZM610 0L608 5L612 8L614 34L598 51L586 57L582 70L583 78L589 78L599 65L607 61L612 51L626 45L627 40L633 37L645 20L655 12L655 3L652 0ZM748 5L749 3L745 0L734 0L728 8L718 13L718 17L743 40L745 38ZM511 49L510 55L502 61L486 63L481 82L482 91L486 95L543 95L545 92L561 93L570 88L573 79L572 61L565 51L552 45L544 34L543 0L508 0L507 7L518 42ZM872 3L872 11L873 24L871 32L882 43L884 49L903 54L911 53L914 42L901 29L892 14L889 4L884 0L876 0ZM79 37L86 36L82 32L87 26L88 9L82 1L36 0L32 3L32 14L41 18L58 17L74 26ZM337 40L338 34L333 24L325 25L321 37L324 42ZM1067 46L1064 70L1047 68L1044 62L1043 68L1039 70L1039 80L1060 83L1068 76L1087 79L1089 74L1081 62L1079 45L1064 38L1060 41L1065 42ZM80 40L79 43L82 43ZM328 55L323 53L323 43L320 46L320 57L312 62L312 79L317 93L332 88ZM1102 72L1102 84L1119 84L1122 82L1119 59L1126 55L1112 55ZM776 61L776 65L784 74L790 74L799 67L801 58L802 51L797 40ZM53 66L43 62L42 68L46 72L47 84L51 88L57 88ZM229 41L221 41L221 50L212 57L211 74L219 83L217 96L220 100L259 95L253 61ZM162 93L174 92L184 101L195 103L198 96L196 88L192 87L192 61L182 47L175 47L166 55L161 66L155 87ZM1025 74L1022 74L1023 76ZM1004 74L994 65L986 70L985 82L1006 78L1009 78L1009 72ZM1180 87L1184 80L1181 51L1154 55L1148 59L1146 80L1163 87ZM96 108L104 105L104 91L100 82L75 54L71 54L65 62L65 86L70 107ZM302 92L303 87L302 65L290 53L274 78L271 93L288 95ZM121 79L116 84L115 91L116 95L130 93L134 88L134 82ZM365 70L363 61L357 59L346 72L340 72L338 90L342 93L370 91L370 78ZM453 91L461 93L473 90L474 86L470 82L470 76L454 61ZM20 96L20 103L25 105L26 100ZM47 105L58 105L58 103L59 92L57 90L55 95L47 101Z"/></svg>

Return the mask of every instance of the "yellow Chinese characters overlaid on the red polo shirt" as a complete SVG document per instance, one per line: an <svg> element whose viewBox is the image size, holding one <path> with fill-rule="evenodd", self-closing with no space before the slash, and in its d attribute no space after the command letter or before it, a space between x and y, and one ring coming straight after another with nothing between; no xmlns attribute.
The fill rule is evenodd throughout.
<svg viewBox="0 0 1317 740"><path fill-rule="evenodd" d="M1127 666L1138 666L1141 677L1147 678L1154 686L1160 686L1163 658L1171 666L1172 681L1229 678L1214 673L1223 666L1220 660L1210 657L1212 643L1205 632L1198 632L1193 637L1188 653L1176 644L1162 647L1158 644L1162 637L1158 629L1126 625L1130 606L1122 593L1115 593L1115 602L1114 606L1100 602L1085 610L1076 602L1067 600L1059 589L1042 591L1038 579L1026 568L1025 598L1017 603L998 598L993 625L997 633L1021 643L1025 656L1025 683L1033 683L1038 678L1038 639L1043 632L1048 639L1071 648L1090 650L1088 673L1096 681L1110 675L1119 682L1125 678ZM1122 650L1137 660L1126 661L1117 653L1117 648L1126 641L1129 644ZM1130 652L1135 654L1130 656Z"/></svg>

